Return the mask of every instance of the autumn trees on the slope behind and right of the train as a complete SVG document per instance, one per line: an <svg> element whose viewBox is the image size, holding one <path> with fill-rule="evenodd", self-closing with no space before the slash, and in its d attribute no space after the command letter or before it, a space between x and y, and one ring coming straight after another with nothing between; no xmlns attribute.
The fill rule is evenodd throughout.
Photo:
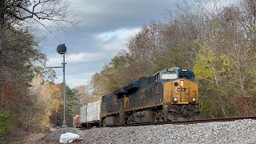
<svg viewBox="0 0 256 144"><path fill-rule="evenodd" d="M142 26L127 43L128 50L94 74L93 94L100 97L177 66L194 71L203 118L255 115L256 2L219 3L184 1L176 14L168 13L166 22Z"/></svg>

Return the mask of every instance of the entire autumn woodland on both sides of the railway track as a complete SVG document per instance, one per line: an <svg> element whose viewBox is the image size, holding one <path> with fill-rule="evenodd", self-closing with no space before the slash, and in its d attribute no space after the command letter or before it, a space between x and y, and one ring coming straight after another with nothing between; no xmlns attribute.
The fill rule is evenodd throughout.
<svg viewBox="0 0 256 144"><path fill-rule="evenodd" d="M194 71L202 118L255 116L256 1L221 2L179 2L162 22L142 26L88 86L66 86L67 125L87 102L174 66ZM54 82L54 70L38 65L46 55L30 26L73 26L70 10L62 0L0 0L0 138L17 128L47 131L57 119L62 125L63 85Z"/></svg>

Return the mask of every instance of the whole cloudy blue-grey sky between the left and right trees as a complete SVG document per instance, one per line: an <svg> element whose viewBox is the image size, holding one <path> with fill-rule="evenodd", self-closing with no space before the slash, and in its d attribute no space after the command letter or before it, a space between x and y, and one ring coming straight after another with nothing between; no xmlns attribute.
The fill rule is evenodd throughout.
<svg viewBox="0 0 256 144"><path fill-rule="evenodd" d="M177 1L176 1L177 2ZM59 44L65 43L66 83L71 88L87 85L91 76L102 70L119 50L126 50L130 38L151 21L162 21L166 10L174 10L174 0L70 0L81 21L76 28L53 30L42 28L40 49L47 55L46 66L60 66ZM62 82L62 70L55 69Z"/></svg>

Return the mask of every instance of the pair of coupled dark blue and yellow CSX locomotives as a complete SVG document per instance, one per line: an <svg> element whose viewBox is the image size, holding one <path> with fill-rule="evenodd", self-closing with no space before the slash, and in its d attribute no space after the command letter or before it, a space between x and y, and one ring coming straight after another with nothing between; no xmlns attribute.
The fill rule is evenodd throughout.
<svg viewBox="0 0 256 144"><path fill-rule="evenodd" d="M98 106L90 126L193 120L200 114L198 84L192 71L168 68L102 96Z"/></svg>

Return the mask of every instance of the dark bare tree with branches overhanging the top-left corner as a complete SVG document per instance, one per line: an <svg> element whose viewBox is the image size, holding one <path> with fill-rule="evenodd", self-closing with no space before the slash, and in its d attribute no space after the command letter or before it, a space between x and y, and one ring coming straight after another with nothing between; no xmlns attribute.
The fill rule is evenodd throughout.
<svg viewBox="0 0 256 144"><path fill-rule="evenodd" d="M3 53L7 52L5 46L5 30L21 27L25 23L38 22L47 30L50 22L52 26L64 29L64 24L75 26L73 10L68 0L0 0L0 60ZM0 62L0 67L3 63ZM0 69L0 105L2 95L2 69Z"/></svg>

